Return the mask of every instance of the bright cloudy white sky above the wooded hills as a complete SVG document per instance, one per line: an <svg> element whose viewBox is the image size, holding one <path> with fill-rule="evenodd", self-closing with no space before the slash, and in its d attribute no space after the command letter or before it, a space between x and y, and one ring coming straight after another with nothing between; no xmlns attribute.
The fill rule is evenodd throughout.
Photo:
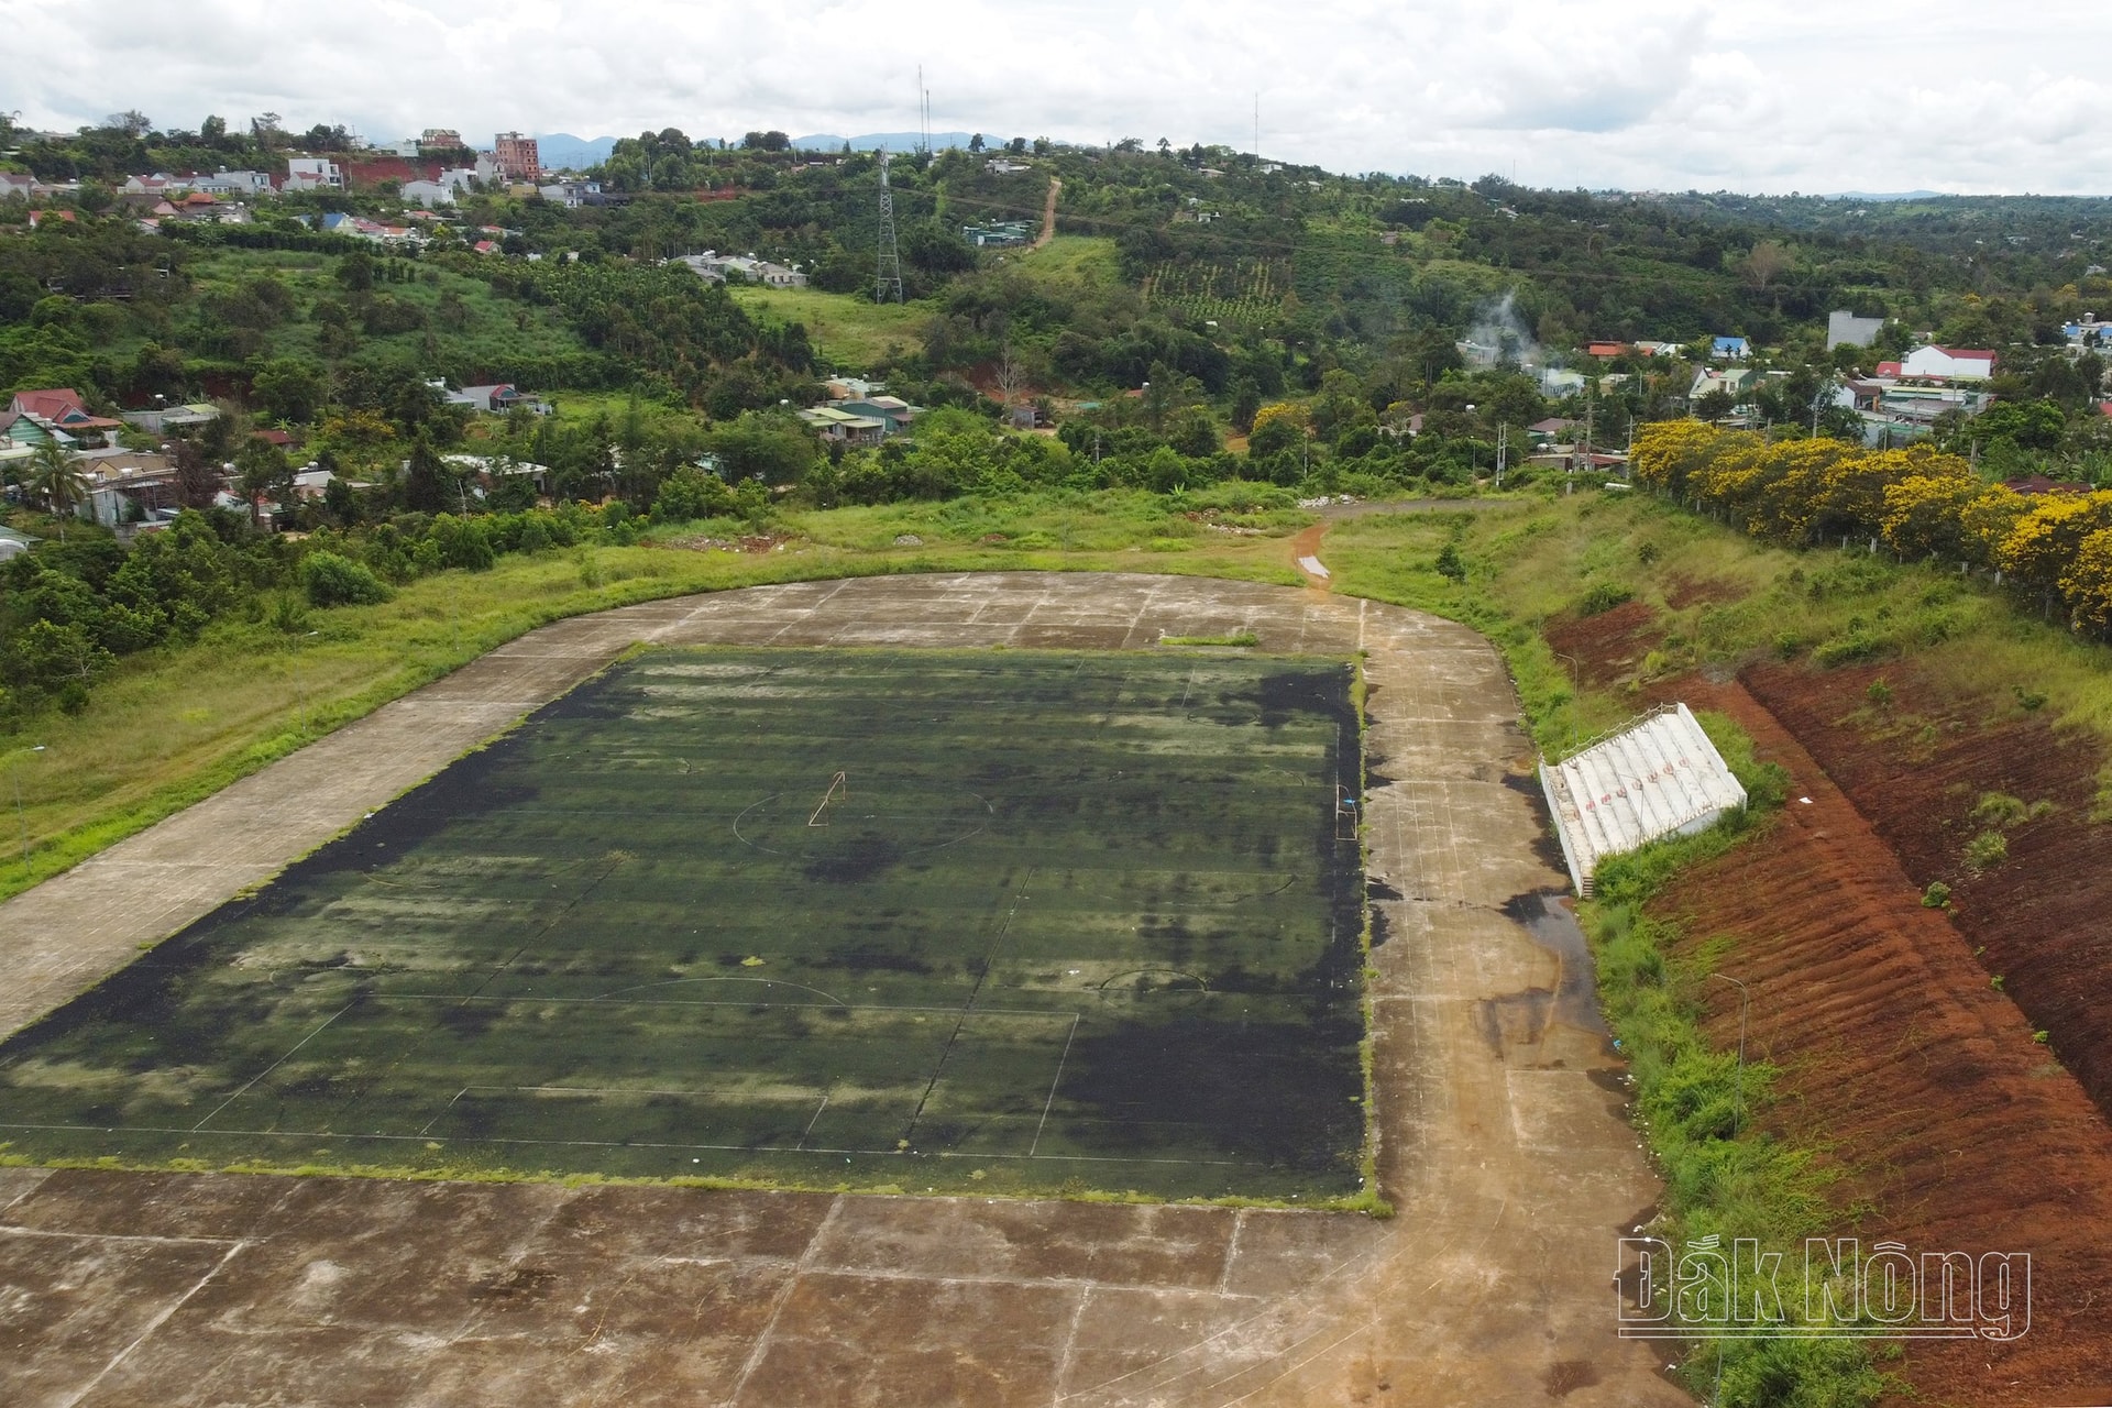
<svg viewBox="0 0 2112 1408"><path fill-rule="evenodd" d="M917 125L1531 186L2112 194L2101 2L0 0L32 127L139 108L739 137ZM34 59L30 57L34 55Z"/></svg>

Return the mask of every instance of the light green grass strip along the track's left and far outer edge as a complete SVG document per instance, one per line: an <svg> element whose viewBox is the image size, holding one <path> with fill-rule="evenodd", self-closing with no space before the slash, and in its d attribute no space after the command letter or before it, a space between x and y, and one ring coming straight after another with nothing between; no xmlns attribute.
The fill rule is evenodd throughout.
<svg viewBox="0 0 2112 1408"><path fill-rule="evenodd" d="M1288 532L1303 515L1242 519ZM0 804L21 787L0 849L0 897L190 806L302 741L361 718L494 646L562 616L653 597L822 576L925 570L1128 570L1297 583L1271 538L1204 530L1147 494L1016 505L893 505L800 515L784 551L596 547L441 572L384 606L315 610L298 631L224 621L196 644L127 657L89 707L49 713L0 747ZM659 538L733 538L693 524ZM917 536L917 545L898 545ZM1001 543L988 538L1003 536ZM317 631L304 635L302 631ZM44 751L30 751L44 745ZM23 865L21 836L30 842Z"/></svg>

